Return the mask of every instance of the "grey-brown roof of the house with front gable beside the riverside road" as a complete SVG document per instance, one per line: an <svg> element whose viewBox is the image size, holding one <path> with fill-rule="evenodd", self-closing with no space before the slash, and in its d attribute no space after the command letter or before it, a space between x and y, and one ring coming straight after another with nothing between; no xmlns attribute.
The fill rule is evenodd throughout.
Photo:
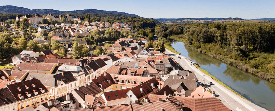
<svg viewBox="0 0 275 111"><path fill-rule="evenodd" d="M164 86L168 85L171 89L176 90L180 85L182 85L185 90L194 90L197 88L197 81L193 79L171 79L167 78L164 81Z"/></svg>

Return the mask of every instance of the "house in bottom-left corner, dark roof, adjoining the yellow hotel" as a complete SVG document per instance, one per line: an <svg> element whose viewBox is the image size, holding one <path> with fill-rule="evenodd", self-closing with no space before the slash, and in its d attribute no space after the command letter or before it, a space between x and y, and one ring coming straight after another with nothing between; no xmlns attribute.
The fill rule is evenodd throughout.
<svg viewBox="0 0 275 111"><path fill-rule="evenodd" d="M7 87L0 89L0 109L2 111L18 110L17 100Z"/></svg>

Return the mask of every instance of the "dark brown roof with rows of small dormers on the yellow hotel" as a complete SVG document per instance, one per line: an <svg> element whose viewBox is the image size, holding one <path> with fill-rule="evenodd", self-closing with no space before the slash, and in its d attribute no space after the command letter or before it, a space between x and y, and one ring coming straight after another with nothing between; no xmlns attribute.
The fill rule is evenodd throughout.
<svg viewBox="0 0 275 111"><path fill-rule="evenodd" d="M33 87L34 84L35 84L35 87ZM49 92L48 89L46 89L46 87L38 79L32 79L32 80L22 81L15 84L10 84L10 85L7 85L7 87L9 88L10 92L12 92L12 95L15 97L17 101L21 101L20 99L21 96L24 97L22 100L37 96L34 94L34 91L38 92L38 95L46 94ZM29 88L26 89L26 87L29 87ZM45 90L45 92L41 92L41 88ZM18 89L21 89L21 91L19 91ZM28 97L27 93L31 94L31 97Z"/></svg>

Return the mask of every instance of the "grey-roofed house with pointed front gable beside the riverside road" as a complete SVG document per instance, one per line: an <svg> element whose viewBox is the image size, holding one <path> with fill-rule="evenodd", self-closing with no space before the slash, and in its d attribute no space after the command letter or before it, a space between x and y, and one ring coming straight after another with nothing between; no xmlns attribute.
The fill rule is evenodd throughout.
<svg viewBox="0 0 275 111"><path fill-rule="evenodd" d="M174 96L188 97L197 88L197 81L192 79L167 78L164 86L168 85L174 91Z"/></svg>

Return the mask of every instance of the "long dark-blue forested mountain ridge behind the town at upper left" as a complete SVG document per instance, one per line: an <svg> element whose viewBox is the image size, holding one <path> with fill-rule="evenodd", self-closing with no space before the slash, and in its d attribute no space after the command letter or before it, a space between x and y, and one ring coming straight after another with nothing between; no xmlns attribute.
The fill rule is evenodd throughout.
<svg viewBox="0 0 275 111"><path fill-rule="evenodd" d="M23 7L17 7L12 5L0 6L0 13L21 13L21 14L63 14L63 13L114 13L114 14L123 14L132 17L140 17L136 14L129 14L125 12L118 11L106 11L106 10L96 10L96 9L86 9L86 10L73 10L73 11L59 11L53 9L28 9Z"/></svg>

